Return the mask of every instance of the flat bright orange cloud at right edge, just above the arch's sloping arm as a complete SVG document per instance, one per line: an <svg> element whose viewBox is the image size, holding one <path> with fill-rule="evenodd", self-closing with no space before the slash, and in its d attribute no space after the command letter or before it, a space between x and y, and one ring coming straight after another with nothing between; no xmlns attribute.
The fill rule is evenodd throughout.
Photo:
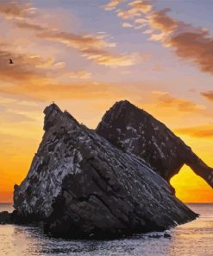
<svg viewBox="0 0 213 256"><path fill-rule="evenodd" d="M213 138L213 125L183 127L175 129L174 131L193 138Z"/></svg>

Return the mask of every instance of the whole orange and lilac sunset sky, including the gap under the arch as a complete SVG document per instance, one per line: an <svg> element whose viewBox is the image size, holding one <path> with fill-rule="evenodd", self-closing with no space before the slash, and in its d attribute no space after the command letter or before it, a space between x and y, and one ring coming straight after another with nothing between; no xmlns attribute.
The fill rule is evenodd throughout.
<svg viewBox="0 0 213 256"><path fill-rule="evenodd" d="M96 128L128 99L213 166L212 10L211 0L1 0L0 202L27 175L53 101ZM187 166L171 183L184 202L213 202Z"/></svg>

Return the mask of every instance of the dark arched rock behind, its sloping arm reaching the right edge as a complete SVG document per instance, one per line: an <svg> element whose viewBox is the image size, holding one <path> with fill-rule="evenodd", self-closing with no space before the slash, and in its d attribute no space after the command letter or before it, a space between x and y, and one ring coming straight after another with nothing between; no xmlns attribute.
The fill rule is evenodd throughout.
<svg viewBox="0 0 213 256"><path fill-rule="evenodd" d="M213 187L213 169L166 125L127 100L117 102L105 113L97 134L124 152L144 159L167 182L187 164Z"/></svg>

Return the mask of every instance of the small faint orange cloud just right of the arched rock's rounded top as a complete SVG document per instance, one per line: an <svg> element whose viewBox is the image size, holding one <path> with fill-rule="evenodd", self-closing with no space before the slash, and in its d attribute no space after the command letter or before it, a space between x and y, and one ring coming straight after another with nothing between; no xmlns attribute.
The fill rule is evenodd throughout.
<svg viewBox="0 0 213 256"><path fill-rule="evenodd" d="M204 106L198 105L189 99L179 99L166 92L153 92L157 96L157 106L175 108L179 112L201 112Z"/></svg>

